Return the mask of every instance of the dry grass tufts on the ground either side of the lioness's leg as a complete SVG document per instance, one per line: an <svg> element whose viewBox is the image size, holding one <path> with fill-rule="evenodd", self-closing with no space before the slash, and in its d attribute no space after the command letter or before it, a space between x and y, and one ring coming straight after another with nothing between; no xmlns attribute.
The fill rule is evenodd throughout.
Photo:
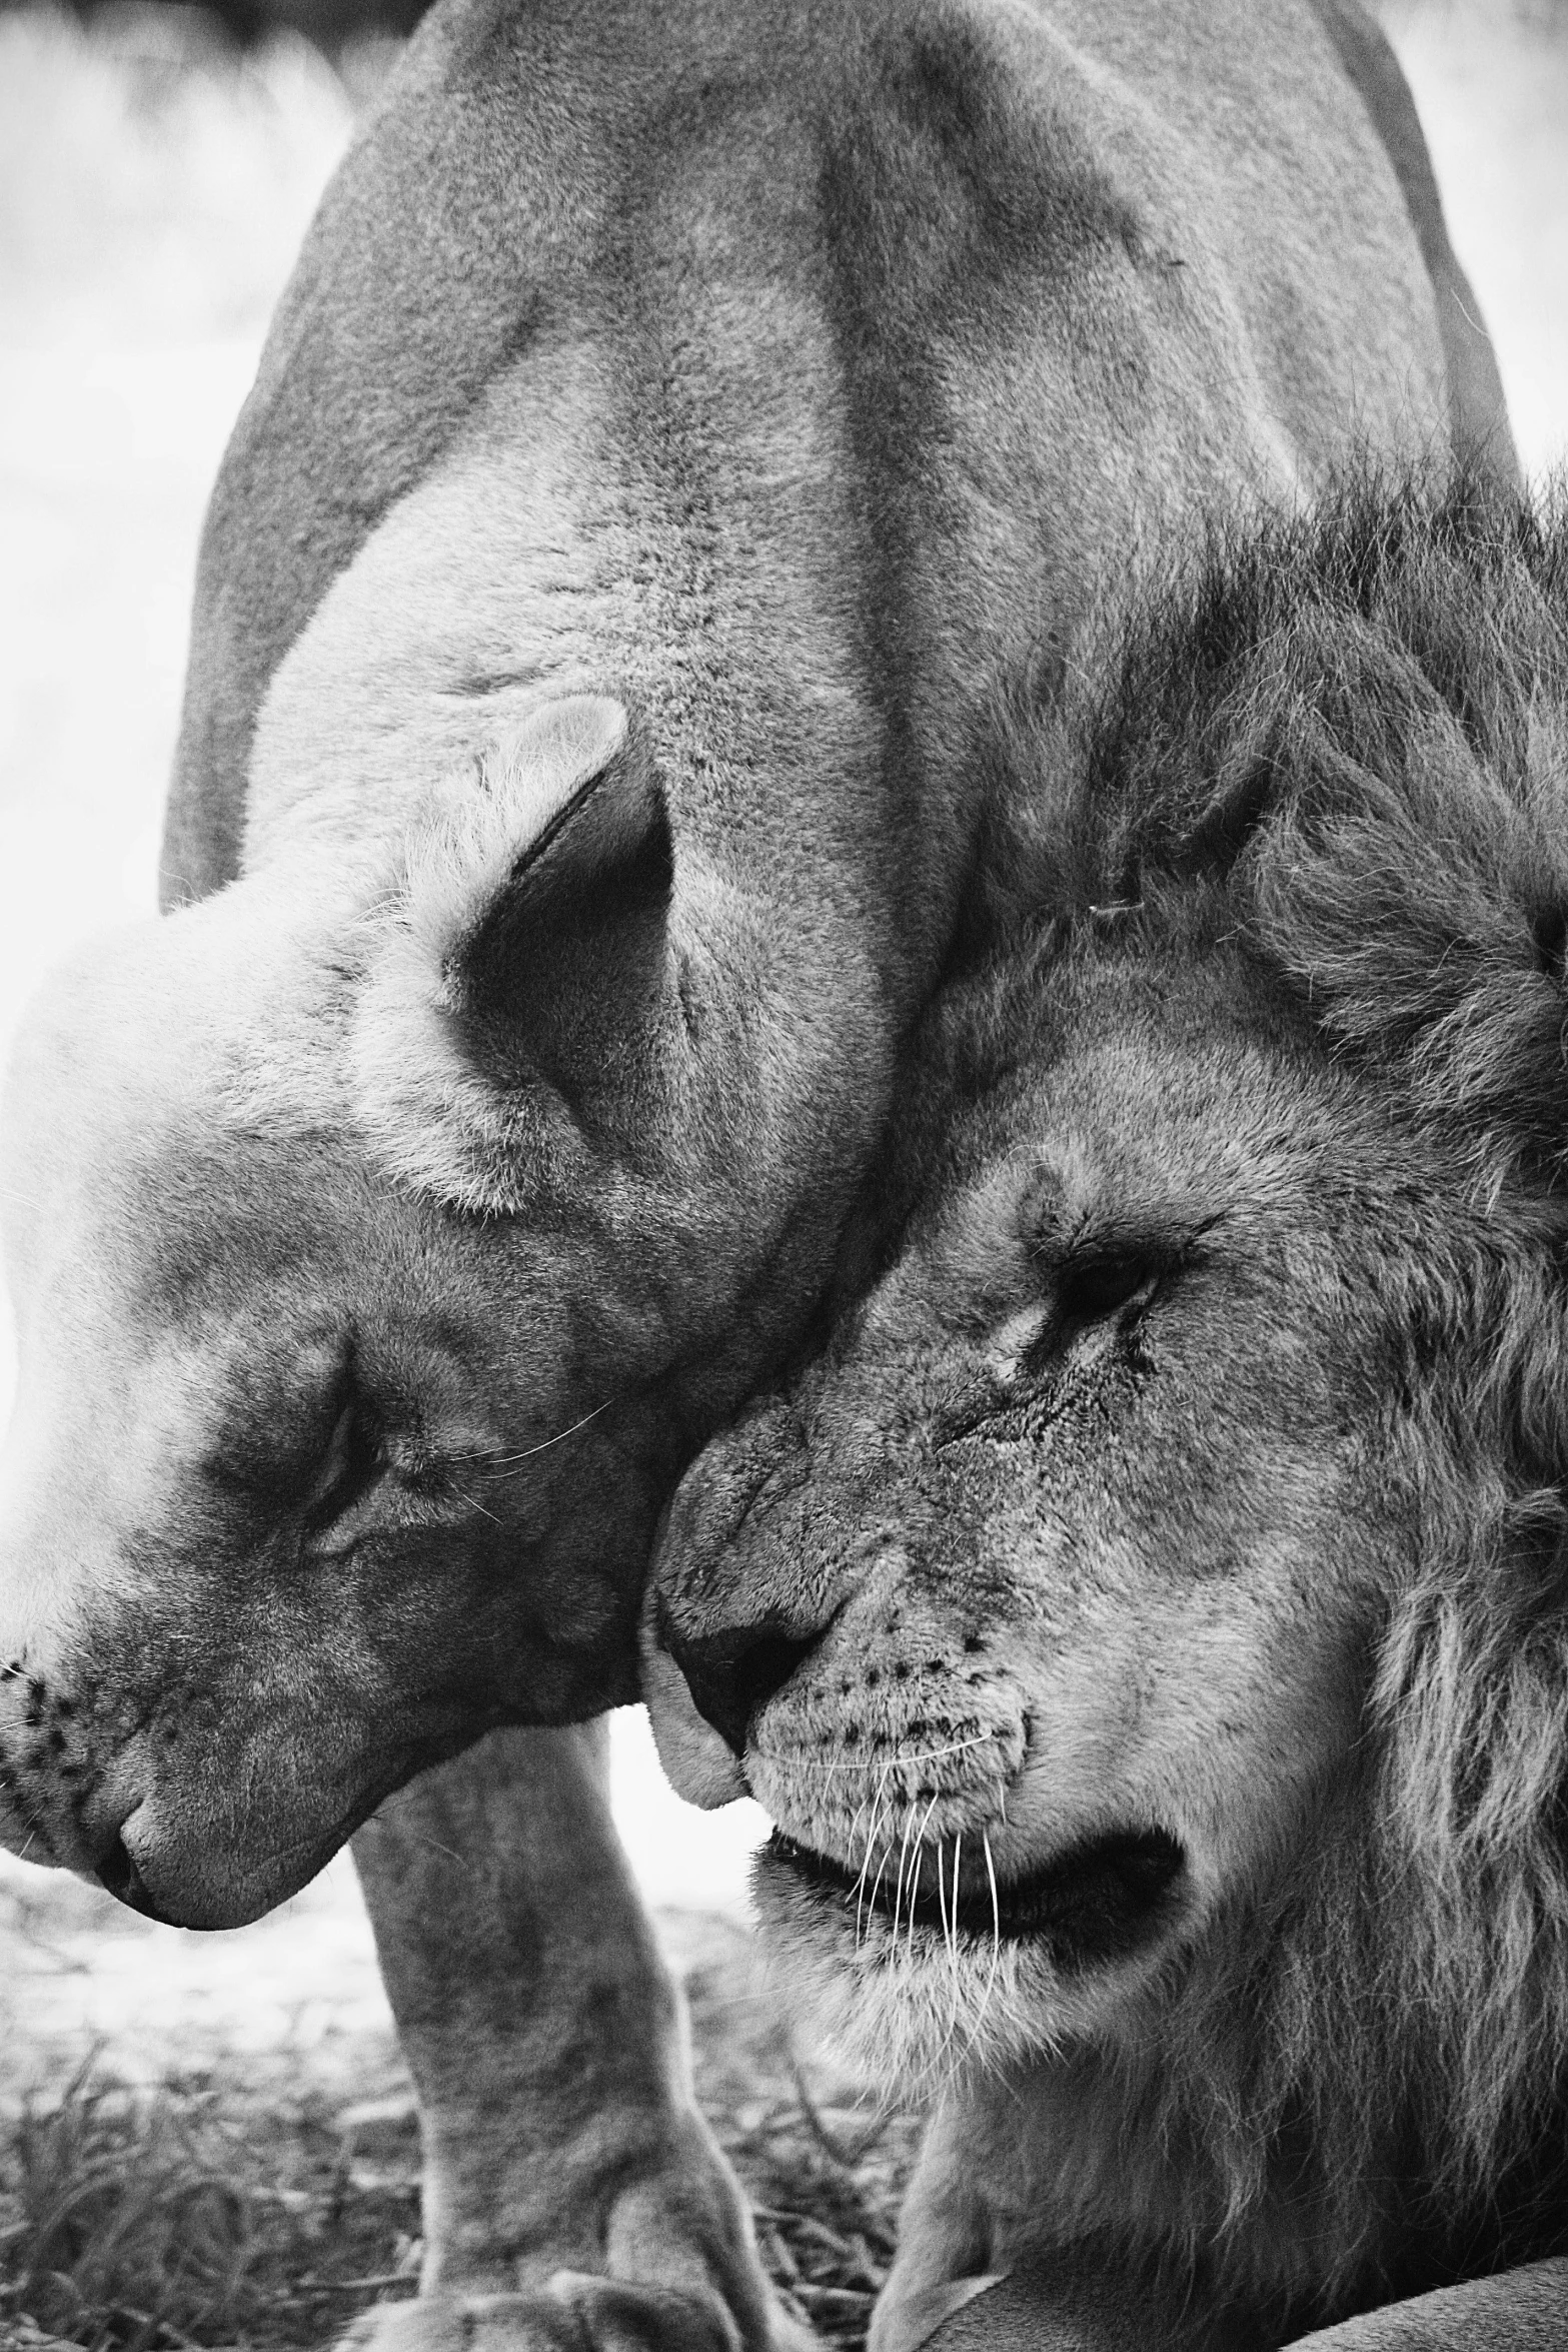
<svg viewBox="0 0 1568 2352"><path fill-rule="evenodd" d="M719 1945L689 1978L698 2096L780 2291L853 2352L917 2124L806 2074L743 1938ZM416 2270L418 2131L400 2082L343 2105L277 2058L153 2089L89 2063L24 2100L0 2143L0 2345L16 2352L320 2347L362 2305L411 2293Z"/></svg>

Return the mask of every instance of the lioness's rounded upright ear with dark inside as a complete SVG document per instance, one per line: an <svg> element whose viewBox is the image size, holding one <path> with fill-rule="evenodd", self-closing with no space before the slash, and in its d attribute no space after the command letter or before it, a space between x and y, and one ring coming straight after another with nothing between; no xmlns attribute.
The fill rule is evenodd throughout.
<svg viewBox="0 0 1568 2352"><path fill-rule="evenodd" d="M607 696L545 703L442 790L355 1021L360 1110L400 1174L512 1207L543 1089L590 1138L635 1124L672 880L663 790Z"/></svg>

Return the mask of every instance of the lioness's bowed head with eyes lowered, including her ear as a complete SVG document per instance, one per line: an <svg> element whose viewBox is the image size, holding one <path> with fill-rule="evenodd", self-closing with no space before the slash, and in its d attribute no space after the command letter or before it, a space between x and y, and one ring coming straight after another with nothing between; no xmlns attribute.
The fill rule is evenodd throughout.
<svg viewBox="0 0 1568 2352"><path fill-rule="evenodd" d="M736 915L621 703L327 863L80 957L0 1122L0 1835L186 1924L635 1693L656 1512L780 1312L708 1103Z"/></svg>

